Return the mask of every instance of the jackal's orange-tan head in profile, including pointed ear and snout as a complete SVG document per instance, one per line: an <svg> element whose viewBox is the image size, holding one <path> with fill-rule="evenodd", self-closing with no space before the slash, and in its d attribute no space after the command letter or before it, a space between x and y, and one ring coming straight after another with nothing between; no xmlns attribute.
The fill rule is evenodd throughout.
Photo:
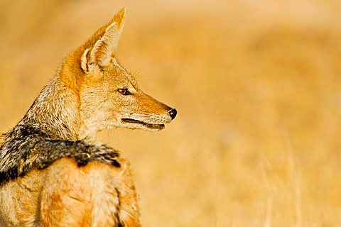
<svg viewBox="0 0 341 227"><path fill-rule="evenodd" d="M177 114L175 109L142 92L134 77L117 61L115 52L125 13L126 9L119 11L63 65L70 71L68 77L74 77L67 79L68 84L79 95L80 118L90 131L112 127L160 131Z"/></svg>

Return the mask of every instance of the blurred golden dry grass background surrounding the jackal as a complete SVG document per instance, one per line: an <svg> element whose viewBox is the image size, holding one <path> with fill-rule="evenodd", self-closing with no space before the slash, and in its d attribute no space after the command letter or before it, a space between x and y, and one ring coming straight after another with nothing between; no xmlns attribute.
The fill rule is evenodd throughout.
<svg viewBox="0 0 341 227"><path fill-rule="evenodd" d="M0 131L122 6L121 63L179 112L99 134L131 160L144 226L341 226L337 0L2 0Z"/></svg>

